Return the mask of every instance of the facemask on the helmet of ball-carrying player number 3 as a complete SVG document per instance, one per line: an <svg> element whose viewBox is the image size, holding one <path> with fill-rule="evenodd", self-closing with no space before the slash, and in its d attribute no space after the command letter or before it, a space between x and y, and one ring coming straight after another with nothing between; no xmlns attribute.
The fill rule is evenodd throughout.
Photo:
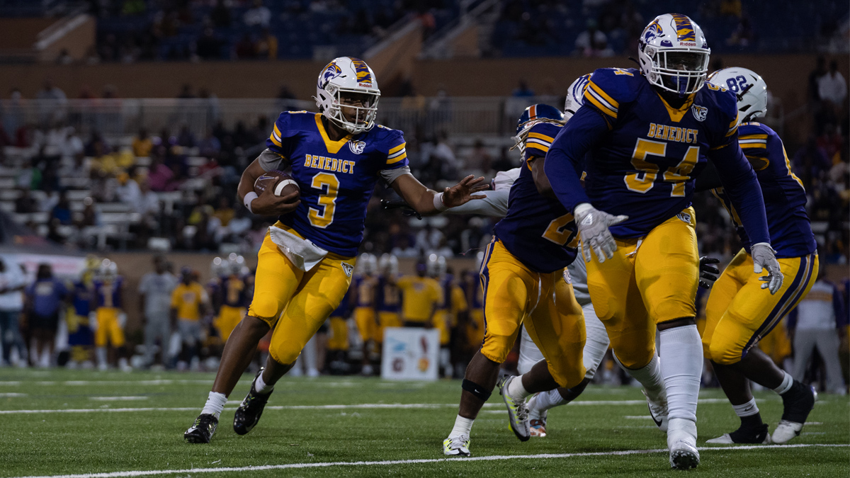
<svg viewBox="0 0 850 478"><path fill-rule="evenodd" d="M360 134L375 126L380 93L340 88L332 83L326 83L320 92L327 97L327 100L322 99L326 101L323 102L325 106L320 107L321 113L338 127L351 134Z"/></svg>

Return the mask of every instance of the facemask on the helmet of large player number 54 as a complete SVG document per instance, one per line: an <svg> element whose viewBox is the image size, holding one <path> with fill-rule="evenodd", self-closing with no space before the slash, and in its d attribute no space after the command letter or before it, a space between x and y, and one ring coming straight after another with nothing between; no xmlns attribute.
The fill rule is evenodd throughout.
<svg viewBox="0 0 850 478"><path fill-rule="evenodd" d="M679 97L700 91L708 77L707 48L662 48L643 43L643 53L652 59L649 83Z"/></svg>

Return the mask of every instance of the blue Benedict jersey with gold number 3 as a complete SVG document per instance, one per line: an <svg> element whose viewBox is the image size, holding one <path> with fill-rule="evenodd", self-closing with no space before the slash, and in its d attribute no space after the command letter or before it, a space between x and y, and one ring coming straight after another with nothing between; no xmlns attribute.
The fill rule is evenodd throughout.
<svg viewBox="0 0 850 478"><path fill-rule="evenodd" d="M377 125L331 141L321 114L284 111L266 145L292 166L301 204L280 222L320 248L354 257L380 172L407 166L404 134Z"/></svg>

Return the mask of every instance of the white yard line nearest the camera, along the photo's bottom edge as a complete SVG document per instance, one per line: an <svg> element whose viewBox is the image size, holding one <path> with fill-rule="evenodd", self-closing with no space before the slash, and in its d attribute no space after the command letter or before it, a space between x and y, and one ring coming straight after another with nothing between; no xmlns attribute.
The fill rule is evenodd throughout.
<svg viewBox="0 0 850 478"><path fill-rule="evenodd" d="M797 445L741 445L739 447L699 447L700 452L711 450L775 450L785 448L804 447L850 447L850 445L826 445L826 444L797 444ZM194 473L233 473L238 471L264 471L267 469L303 469L303 468L326 468L329 466L388 466L393 464L428 464L446 462L472 462L472 461L501 461L513 459L546 459L546 458L576 458L576 457L598 457L598 456L625 456L643 455L648 453L666 453L666 449L655 450L623 450L620 452L581 452L581 453L540 453L536 455L492 455L489 457L467 457L467 458L425 458L415 460L385 460L385 461L358 461L358 462L320 462L320 463L292 463L292 464L266 464L260 466L220 467L220 468L191 468L191 469L150 469L139 471L113 471L111 473L85 473L80 475L30 475L18 478L122 478L124 476L150 476L150 475L187 475Z"/></svg>

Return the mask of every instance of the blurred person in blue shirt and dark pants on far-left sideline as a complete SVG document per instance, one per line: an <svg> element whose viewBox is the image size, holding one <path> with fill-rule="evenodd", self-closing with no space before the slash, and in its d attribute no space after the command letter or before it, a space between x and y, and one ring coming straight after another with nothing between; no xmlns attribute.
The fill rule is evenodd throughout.
<svg viewBox="0 0 850 478"><path fill-rule="evenodd" d="M36 339L39 367L50 366L59 328L59 310L68 295L65 284L54 278L53 267L49 264L38 265L36 282L26 287L25 310L32 336Z"/></svg>

